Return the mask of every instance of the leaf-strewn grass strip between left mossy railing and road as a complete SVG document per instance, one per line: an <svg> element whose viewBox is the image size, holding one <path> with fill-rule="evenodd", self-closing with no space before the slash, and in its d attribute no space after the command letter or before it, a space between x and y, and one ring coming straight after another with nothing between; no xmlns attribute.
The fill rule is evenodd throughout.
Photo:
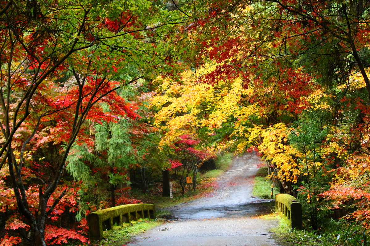
<svg viewBox="0 0 370 246"><path fill-rule="evenodd" d="M132 221L133 225L122 228L114 226L114 230L104 231L104 238L99 242L93 242L92 246L125 246L131 238L139 233L145 232L148 229L162 224L162 222L152 219L139 219L138 222Z"/></svg>

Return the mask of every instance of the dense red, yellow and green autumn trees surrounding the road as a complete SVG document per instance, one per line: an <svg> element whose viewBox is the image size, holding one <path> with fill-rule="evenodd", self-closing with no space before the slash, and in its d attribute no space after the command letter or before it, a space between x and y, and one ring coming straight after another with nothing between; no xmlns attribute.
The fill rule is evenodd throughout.
<svg viewBox="0 0 370 246"><path fill-rule="evenodd" d="M369 229L370 2L3 1L0 246L256 151L305 226Z"/></svg>

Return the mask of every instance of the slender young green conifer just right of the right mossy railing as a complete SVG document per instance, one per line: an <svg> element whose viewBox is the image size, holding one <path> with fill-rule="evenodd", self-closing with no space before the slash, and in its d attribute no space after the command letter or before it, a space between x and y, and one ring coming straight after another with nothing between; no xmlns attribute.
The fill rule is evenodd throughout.
<svg viewBox="0 0 370 246"><path fill-rule="evenodd" d="M319 123L310 121L296 122L296 129L289 134L289 141L302 153L302 174L304 180L298 185L298 200L302 204L303 217L313 231L320 229L328 214L327 201L320 194L328 191L332 174L327 165L323 149L326 129Z"/></svg>

